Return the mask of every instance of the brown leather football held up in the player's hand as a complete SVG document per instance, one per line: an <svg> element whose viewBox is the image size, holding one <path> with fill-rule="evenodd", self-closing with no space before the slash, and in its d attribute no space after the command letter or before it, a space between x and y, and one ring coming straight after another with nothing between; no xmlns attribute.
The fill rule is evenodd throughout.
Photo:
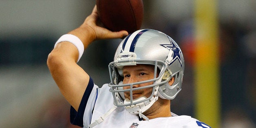
<svg viewBox="0 0 256 128"><path fill-rule="evenodd" d="M103 25L110 31L139 30L143 20L142 0L97 0L97 11Z"/></svg>

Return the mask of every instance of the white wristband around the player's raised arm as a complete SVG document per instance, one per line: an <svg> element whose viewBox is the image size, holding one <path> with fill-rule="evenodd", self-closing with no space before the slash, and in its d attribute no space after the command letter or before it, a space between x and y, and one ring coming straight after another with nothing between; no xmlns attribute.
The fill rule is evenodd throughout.
<svg viewBox="0 0 256 128"><path fill-rule="evenodd" d="M79 53L79 56L78 56L78 59L77 59L77 62L78 62L80 60L80 58L82 57L83 53L84 53L84 44L83 44L83 42L75 35L65 34L65 35L62 35L59 40L57 40L57 42L54 45L54 48L56 47L56 45L58 43L64 42L64 41L70 42L70 43L74 44L77 47L77 50L78 50L78 53Z"/></svg>

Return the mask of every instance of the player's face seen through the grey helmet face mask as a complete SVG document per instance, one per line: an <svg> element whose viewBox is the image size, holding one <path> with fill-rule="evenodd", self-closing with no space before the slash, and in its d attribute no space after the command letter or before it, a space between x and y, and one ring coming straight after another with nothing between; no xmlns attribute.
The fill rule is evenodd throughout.
<svg viewBox="0 0 256 128"><path fill-rule="evenodd" d="M123 68L124 80L123 84L130 84L134 82L141 82L154 78L154 66L138 64L135 66L124 66ZM153 82L133 85L132 88L151 85ZM130 86L123 87L124 89L130 88ZM140 96L149 97L152 94L152 88L144 88L132 91L132 99L137 99ZM130 99L130 92L124 92L125 98Z"/></svg>

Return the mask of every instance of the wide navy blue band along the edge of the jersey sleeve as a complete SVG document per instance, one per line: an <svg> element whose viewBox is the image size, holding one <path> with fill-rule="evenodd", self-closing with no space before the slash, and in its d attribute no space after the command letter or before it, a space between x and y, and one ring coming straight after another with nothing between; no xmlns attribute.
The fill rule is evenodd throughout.
<svg viewBox="0 0 256 128"><path fill-rule="evenodd" d="M90 93L93 90L93 86L94 86L93 79L90 78L88 86L87 86L87 88L84 92L84 95L82 97L82 101L79 105L78 111L76 111L75 108L73 108L73 106L71 106L71 108L70 108L70 122L71 122L71 124L77 125L77 126L80 126L80 127L84 127L84 123L83 123L84 122L83 121L84 110L85 110L86 104L88 102Z"/></svg>

